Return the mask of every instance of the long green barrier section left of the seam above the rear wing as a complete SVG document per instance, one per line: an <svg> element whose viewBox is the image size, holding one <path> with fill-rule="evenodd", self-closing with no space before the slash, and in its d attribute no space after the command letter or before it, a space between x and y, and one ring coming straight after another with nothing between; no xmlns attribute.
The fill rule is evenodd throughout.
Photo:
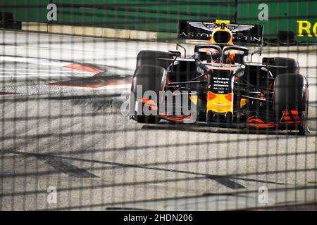
<svg viewBox="0 0 317 225"><path fill-rule="evenodd" d="M6 4L29 4L28 8L5 8L14 12L16 20L47 23L47 0L8 1ZM52 1L58 9L56 24L93 25L119 29L177 32L178 20L235 19L235 1L226 0L90 0ZM215 4L214 4L214 3ZM37 4L39 4L37 7ZM229 7L230 6L230 7Z"/></svg>

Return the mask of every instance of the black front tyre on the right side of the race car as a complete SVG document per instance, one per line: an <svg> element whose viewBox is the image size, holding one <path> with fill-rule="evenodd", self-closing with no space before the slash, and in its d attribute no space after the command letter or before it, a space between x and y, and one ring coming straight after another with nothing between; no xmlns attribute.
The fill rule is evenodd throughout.
<svg viewBox="0 0 317 225"><path fill-rule="evenodd" d="M308 131L308 83L304 76L282 74L274 82L273 108L277 120L281 120L283 111L297 110L301 123L296 128L301 134Z"/></svg>

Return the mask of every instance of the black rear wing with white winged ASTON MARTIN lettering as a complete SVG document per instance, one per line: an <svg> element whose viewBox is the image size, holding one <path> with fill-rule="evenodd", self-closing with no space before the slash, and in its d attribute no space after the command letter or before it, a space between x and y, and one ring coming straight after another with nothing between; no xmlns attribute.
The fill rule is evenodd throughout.
<svg viewBox="0 0 317 225"><path fill-rule="evenodd" d="M209 41L213 30L220 26L218 23L179 20L178 39ZM234 44L263 44L263 25L227 24L225 27L232 32Z"/></svg>

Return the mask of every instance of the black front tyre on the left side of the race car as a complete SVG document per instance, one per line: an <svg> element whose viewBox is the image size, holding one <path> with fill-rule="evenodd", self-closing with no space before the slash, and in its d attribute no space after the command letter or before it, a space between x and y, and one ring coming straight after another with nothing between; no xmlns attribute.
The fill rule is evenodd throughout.
<svg viewBox="0 0 317 225"><path fill-rule="evenodd" d="M140 65L133 76L130 104L134 109L132 119L142 123L159 122L159 91L164 89L166 84L166 70L156 65ZM142 88L141 90L138 90ZM146 91L153 91L156 99L151 96L151 100L156 103L156 115L144 115L142 98ZM131 105L130 105L131 106ZM153 110L153 109L152 109Z"/></svg>

